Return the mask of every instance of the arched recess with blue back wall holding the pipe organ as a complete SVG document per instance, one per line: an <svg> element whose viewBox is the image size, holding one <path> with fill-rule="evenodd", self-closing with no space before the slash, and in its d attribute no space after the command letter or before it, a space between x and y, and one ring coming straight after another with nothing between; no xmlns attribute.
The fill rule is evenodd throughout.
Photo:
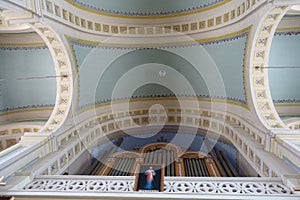
<svg viewBox="0 0 300 200"><path fill-rule="evenodd" d="M206 146L206 131L198 130L194 137L189 133L177 132L176 126L165 126L156 134L151 128L133 129L132 134L114 133L110 140L98 140L89 148L91 160L84 168L75 162L68 167L71 174L98 176L134 176L138 165L161 165L165 176L187 177L239 177L257 176L257 173L227 139L220 137L207 154L201 152ZM144 137L147 137L145 140ZM174 139L176 138L176 139ZM183 146L180 141L191 140ZM90 163L87 167L87 163ZM79 170L78 170L79 169Z"/></svg>

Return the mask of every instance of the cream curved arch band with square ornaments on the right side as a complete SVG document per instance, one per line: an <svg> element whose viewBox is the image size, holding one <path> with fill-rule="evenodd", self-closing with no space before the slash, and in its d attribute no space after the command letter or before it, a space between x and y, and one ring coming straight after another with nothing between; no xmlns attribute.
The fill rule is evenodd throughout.
<svg viewBox="0 0 300 200"><path fill-rule="evenodd" d="M262 17L253 39L249 63L250 91L255 111L270 128L287 128L280 119L270 93L268 80L269 53L276 28L290 6L271 6Z"/></svg>

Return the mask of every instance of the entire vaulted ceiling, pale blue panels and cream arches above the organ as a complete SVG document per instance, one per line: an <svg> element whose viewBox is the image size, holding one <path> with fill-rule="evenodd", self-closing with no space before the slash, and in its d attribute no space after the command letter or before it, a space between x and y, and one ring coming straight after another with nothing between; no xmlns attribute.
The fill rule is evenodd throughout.
<svg viewBox="0 0 300 200"><path fill-rule="evenodd" d="M247 145L252 142L275 151L267 141L273 137L269 130L290 131L278 114L285 118L300 115L299 12L290 10L275 30L289 8L276 4L283 1L19 2L25 1L0 2L4 8L0 11L0 123L5 128L0 134L13 135L18 122L38 121L46 123L41 132L58 133L55 140L63 145L78 130L95 125L92 115L99 110L102 121L110 120L115 113L105 106L111 102L121 105L134 100L138 113L144 114L144 107L178 97L188 103L183 110L172 108L173 114L182 111L227 121L238 130L234 138L228 129L227 136L230 132L241 152L251 156ZM220 113L200 113L190 100L205 109L216 102ZM93 109L98 110L92 113ZM122 110L118 117L132 113ZM207 129L214 125L215 130L226 132L224 124L189 119L195 127L203 122ZM174 123L181 120L173 116ZM117 122L109 123L105 129L116 130ZM70 127L74 128L71 132ZM240 135L246 139L242 141ZM252 164L271 175L266 172L271 165L266 167L260 155L253 156ZM298 164L294 158L287 162Z"/></svg>

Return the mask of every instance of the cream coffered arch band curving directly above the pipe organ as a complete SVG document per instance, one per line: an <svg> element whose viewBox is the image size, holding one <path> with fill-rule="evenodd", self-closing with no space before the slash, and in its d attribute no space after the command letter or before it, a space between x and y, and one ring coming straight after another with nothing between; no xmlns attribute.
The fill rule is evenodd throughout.
<svg viewBox="0 0 300 200"><path fill-rule="evenodd" d="M127 104L127 102L116 102L117 104ZM111 104L103 105L103 107L97 107L100 110L93 110L92 116L87 115L87 113L83 114L83 118L78 117L75 119L78 121L76 126L72 129L66 129L65 133L61 135L61 144L64 144L66 140L71 140L69 135L70 133L74 133L72 135L77 136L80 135L81 138L92 138L85 146L95 144L98 136L107 137L109 134L114 134L116 131L121 130L132 130L135 128L137 133L141 133L141 124L143 124L143 119L147 118L148 122L151 120L151 125L174 125L180 124L180 126L185 127L193 127L203 130L216 131L218 134L222 134L225 138L230 140L232 144L239 150L241 154L248 160L249 164L251 164L255 169L257 169L262 176L277 176L281 175L282 171L278 168L273 168L273 164L269 163L268 160L265 160L264 157L261 157L261 151L263 150L263 145L265 143L265 134L262 130L258 130L255 128L255 123L251 123L246 121L243 117L238 117L236 115L232 115L230 112L223 112L214 110L211 112L210 109L192 109L189 105L187 107L180 107L180 111L178 111L178 107L173 107L172 104L170 106L166 105L165 110L171 118L164 118L161 116L165 116L165 113L159 112L160 109L155 109L149 112L144 112L144 110L148 109L148 104L145 103L139 109L128 110L125 108L119 109L116 112L110 112L110 109L107 109L111 106ZM119 106L118 106L119 107ZM122 108L123 106L120 106ZM124 107L123 107L124 108ZM95 112L96 111L96 112ZM95 113L97 113L95 115ZM149 113L155 113L155 117L151 119ZM115 115L113 115L115 114ZM89 117L90 118L89 118ZM177 117L180 116L180 120ZM134 119L138 119L139 125L136 125ZM166 122L165 120L168 120ZM224 120L225 123L224 123ZM146 123L144 125L147 125ZM122 128L120 128L122 127ZM164 126L166 127L166 126ZM125 129L123 129L125 128ZM149 129L148 129L149 130ZM76 133L76 134L75 134ZM84 134L84 135L82 135ZM89 137L88 135L93 135L93 137ZM249 140L251 138L254 140ZM82 140L81 140L82 141ZM85 140L87 141L87 140ZM249 143L249 141L251 141ZM80 143L80 141L79 141ZM253 146L255 144L255 146ZM69 148L70 146L68 146ZM48 165L49 166L49 165Z"/></svg>

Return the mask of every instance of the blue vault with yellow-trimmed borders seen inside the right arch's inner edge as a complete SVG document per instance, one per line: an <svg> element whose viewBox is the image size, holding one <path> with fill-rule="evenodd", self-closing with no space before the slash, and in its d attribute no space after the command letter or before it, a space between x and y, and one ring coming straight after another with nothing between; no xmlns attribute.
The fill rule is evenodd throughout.
<svg viewBox="0 0 300 200"><path fill-rule="evenodd" d="M292 6L276 29L268 76L276 111L291 129L300 128L300 10Z"/></svg>

